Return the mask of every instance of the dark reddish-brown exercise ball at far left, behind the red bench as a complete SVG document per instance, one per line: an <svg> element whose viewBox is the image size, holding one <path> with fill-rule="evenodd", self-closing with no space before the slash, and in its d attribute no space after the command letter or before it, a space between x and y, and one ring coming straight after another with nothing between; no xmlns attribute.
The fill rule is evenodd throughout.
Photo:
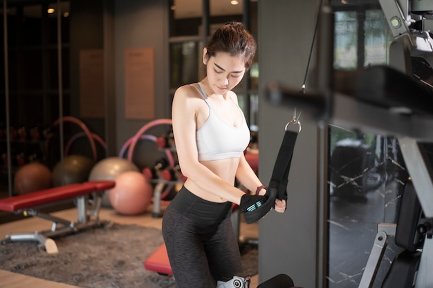
<svg viewBox="0 0 433 288"><path fill-rule="evenodd" d="M37 162L21 166L15 174L14 190L26 194L51 187L52 173L44 164Z"/></svg>

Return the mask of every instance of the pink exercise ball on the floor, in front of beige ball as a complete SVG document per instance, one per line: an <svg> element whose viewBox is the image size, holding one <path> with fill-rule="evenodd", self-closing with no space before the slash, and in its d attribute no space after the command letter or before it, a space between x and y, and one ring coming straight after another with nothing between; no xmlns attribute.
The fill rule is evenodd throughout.
<svg viewBox="0 0 433 288"><path fill-rule="evenodd" d="M116 177L116 186L109 190L111 206L124 215L145 213L151 202L153 189L145 175L127 171Z"/></svg>

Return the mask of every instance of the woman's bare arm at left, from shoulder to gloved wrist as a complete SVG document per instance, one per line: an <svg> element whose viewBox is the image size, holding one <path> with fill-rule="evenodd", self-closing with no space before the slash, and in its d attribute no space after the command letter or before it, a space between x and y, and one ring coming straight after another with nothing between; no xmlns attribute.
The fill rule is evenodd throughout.
<svg viewBox="0 0 433 288"><path fill-rule="evenodd" d="M191 86L176 90L172 104L172 126L179 165L183 175L203 191L240 204L243 191L221 179L199 162L196 144L197 115L203 99Z"/></svg>

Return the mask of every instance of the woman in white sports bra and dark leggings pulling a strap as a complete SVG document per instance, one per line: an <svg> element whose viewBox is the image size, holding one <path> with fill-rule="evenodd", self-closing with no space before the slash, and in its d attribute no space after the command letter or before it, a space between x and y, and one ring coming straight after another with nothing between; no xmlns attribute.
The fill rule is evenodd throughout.
<svg viewBox="0 0 433 288"><path fill-rule="evenodd" d="M247 222L271 207L286 209L284 200L269 197L243 155L250 131L232 88L255 51L255 39L241 23L225 24L203 48L206 77L174 94L174 141L187 180L164 213L163 236L178 288L212 288L242 274L232 203ZM235 178L255 195L235 187Z"/></svg>

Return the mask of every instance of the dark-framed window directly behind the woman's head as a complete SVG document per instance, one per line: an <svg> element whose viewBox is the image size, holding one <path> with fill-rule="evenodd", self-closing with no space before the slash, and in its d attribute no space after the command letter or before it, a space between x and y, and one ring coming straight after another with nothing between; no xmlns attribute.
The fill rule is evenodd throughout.
<svg viewBox="0 0 433 288"><path fill-rule="evenodd" d="M179 86L204 77L201 61L203 47L212 33L228 21L240 21L257 35L257 0L238 0L237 5L221 0L172 0L169 10L170 88L172 95ZM244 12L246 11L246 12ZM257 126L257 88L259 68L257 55L249 73L235 88L239 106L250 126Z"/></svg>

